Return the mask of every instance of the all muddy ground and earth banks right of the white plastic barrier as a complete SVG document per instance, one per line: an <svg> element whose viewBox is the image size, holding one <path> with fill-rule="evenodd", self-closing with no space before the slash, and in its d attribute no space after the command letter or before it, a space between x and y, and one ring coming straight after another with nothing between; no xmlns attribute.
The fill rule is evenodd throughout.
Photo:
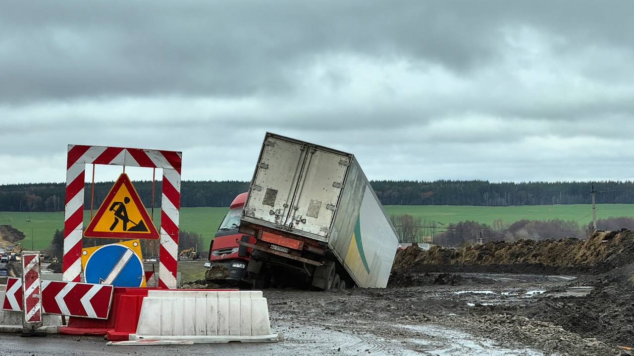
<svg viewBox="0 0 634 356"><path fill-rule="evenodd" d="M634 232L623 230L583 240L410 246L398 251L385 289L264 293L280 331L318 327L359 340L333 341L320 354L630 355L621 346L634 345L633 276ZM319 346L297 347L304 355Z"/></svg>

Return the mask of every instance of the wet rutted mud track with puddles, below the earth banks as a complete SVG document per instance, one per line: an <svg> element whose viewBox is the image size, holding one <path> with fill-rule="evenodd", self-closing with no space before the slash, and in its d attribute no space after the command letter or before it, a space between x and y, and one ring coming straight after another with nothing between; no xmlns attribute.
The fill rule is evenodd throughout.
<svg viewBox="0 0 634 356"><path fill-rule="evenodd" d="M617 343L571 331L541 315L547 314L553 303L579 301L578 305L583 306L588 298L594 300L592 284L600 277L444 275L460 283L452 286L434 284L439 276L443 275L422 274L419 281L428 284L406 288L328 293L267 289L264 294L272 326L281 327L280 331L296 334L300 329L312 337L337 331L347 336L326 338L318 345L298 343L297 355L621 353ZM565 309L574 315L573 307Z"/></svg>

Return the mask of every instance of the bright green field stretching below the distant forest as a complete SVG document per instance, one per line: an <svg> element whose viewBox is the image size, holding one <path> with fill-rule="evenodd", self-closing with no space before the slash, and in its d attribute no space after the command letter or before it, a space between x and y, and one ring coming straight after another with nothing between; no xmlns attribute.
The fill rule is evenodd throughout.
<svg viewBox="0 0 634 356"><path fill-rule="evenodd" d="M209 241L220 225L228 208L182 208L180 228L197 232L204 238L207 250ZM528 205L522 207L471 207L454 205L386 205L388 215L410 214L421 217L428 222L443 224L463 220L474 220L491 225L494 220L502 219L510 224L517 220L575 220L579 225L588 224L592 220L590 205ZM597 218L634 216L634 204L598 204ZM158 226L160 210L155 210L154 220ZM30 221L27 221L30 220ZM63 212L23 213L0 212L0 225L11 225L27 236L22 243L25 248L47 248L55 229L63 229ZM90 212L84 212L84 226L90 220Z"/></svg>

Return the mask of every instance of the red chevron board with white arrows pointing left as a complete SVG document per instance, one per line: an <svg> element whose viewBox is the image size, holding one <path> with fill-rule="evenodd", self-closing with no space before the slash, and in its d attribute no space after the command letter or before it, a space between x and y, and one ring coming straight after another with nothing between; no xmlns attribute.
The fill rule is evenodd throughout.
<svg viewBox="0 0 634 356"><path fill-rule="evenodd" d="M108 319L113 290L114 287L107 284L42 281L41 312ZM8 278L3 310L21 311L21 301L22 281L14 277Z"/></svg>

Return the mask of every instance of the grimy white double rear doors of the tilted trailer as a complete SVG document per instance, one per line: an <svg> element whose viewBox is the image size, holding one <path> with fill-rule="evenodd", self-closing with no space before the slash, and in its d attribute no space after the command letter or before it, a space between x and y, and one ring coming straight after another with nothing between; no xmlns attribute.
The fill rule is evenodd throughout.
<svg viewBox="0 0 634 356"><path fill-rule="evenodd" d="M267 134L243 220L328 241L351 157Z"/></svg>

